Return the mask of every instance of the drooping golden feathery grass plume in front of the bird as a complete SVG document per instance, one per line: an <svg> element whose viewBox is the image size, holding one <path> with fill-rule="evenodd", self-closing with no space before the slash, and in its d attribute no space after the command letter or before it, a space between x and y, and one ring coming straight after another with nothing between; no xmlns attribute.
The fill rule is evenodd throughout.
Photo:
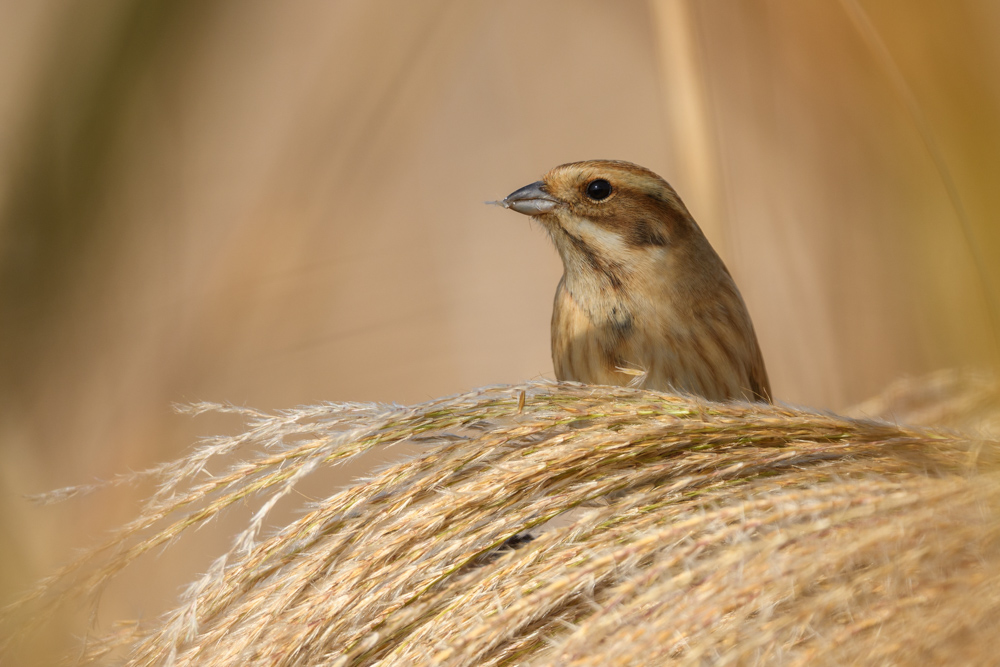
<svg viewBox="0 0 1000 667"><path fill-rule="evenodd" d="M969 392L979 412L962 414L995 410L996 382ZM91 642L90 657L121 645L130 665L208 666L995 655L993 441L549 383L415 407L192 408L208 409L250 427L151 471L160 488L140 516L19 609L91 594L143 553L256 498L250 525L172 612ZM425 449L262 537L268 512L306 475L402 441ZM253 458L203 475L235 450Z"/></svg>

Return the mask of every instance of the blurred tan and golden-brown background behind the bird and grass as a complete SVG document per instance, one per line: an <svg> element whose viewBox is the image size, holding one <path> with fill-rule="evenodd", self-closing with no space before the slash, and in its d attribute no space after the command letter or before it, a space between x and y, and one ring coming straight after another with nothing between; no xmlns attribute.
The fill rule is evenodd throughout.
<svg viewBox="0 0 1000 667"><path fill-rule="evenodd" d="M483 202L563 162L674 185L779 400L995 367L997 34L995 0L0 2L0 594L148 489L24 494L239 427L173 403L552 377L560 262Z"/></svg>

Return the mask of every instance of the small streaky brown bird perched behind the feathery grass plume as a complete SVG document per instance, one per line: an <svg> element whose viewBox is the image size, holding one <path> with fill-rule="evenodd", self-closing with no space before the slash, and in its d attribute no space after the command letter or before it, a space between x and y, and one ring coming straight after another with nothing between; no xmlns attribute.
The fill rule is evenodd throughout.
<svg viewBox="0 0 1000 667"><path fill-rule="evenodd" d="M663 178L620 160L572 162L489 203L537 220L562 259L557 380L771 402L743 297Z"/></svg>

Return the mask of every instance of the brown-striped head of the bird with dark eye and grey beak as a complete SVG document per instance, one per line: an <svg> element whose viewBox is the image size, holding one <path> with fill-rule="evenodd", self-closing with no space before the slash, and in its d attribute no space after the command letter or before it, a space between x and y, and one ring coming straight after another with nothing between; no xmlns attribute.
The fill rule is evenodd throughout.
<svg viewBox="0 0 1000 667"><path fill-rule="evenodd" d="M707 245L674 189L630 162L560 165L500 203L542 223L567 277L596 272L612 285L641 280L654 264L662 272L664 261Z"/></svg>

